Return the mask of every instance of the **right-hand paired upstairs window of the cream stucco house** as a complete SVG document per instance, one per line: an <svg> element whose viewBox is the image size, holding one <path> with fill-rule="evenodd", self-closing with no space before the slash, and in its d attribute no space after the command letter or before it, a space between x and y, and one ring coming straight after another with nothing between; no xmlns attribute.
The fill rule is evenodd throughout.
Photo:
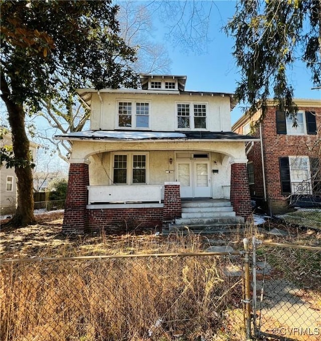
<svg viewBox="0 0 321 341"><path fill-rule="evenodd" d="M206 129L206 111L206 104L203 103L178 103L178 129Z"/></svg>

